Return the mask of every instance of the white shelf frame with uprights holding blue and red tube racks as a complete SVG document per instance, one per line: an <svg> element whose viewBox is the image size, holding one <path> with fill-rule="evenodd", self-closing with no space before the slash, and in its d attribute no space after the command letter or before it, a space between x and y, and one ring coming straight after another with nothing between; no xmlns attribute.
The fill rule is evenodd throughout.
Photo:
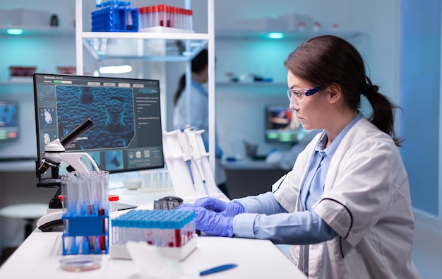
<svg viewBox="0 0 442 279"><path fill-rule="evenodd" d="M209 127L215 125L215 20L214 20L214 0L207 0L207 33L195 33L189 30L157 30L154 32L87 32L83 29L83 1L76 0L76 66L78 75L83 74L83 48L90 52L92 57L97 61L106 59L135 59L140 61L159 61L159 62L186 62L186 76L191 73L191 59L198 54L203 48L208 49L208 109L209 109ZM191 9L191 0L184 0L184 8ZM141 30L145 31L145 30ZM150 31L150 30L149 30ZM109 49L109 42L118 45L135 47L135 51L130 52L128 48L117 49L117 51ZM181 42L182 41L182 42ZM153 47L153 52L149 52L146 46ZM184 49L178 48L173 51L167 50L167 44L181 42ZM129 43L129 44L128 44ZM135 44L134 44L135 43ZM112 45L114 47L114 45ZM126 51L126 54L121 51ZM155 54L155 51L157 53ZM144 63L147 66L148 63ZM153 64L153 67L155 64ZM189 89L190 90L190 87ZM190 94L187 94L190 96ZM209 129L209 149L215 150L215 129ZM215 171L215 153L210 152L210 166Z"/></svg>

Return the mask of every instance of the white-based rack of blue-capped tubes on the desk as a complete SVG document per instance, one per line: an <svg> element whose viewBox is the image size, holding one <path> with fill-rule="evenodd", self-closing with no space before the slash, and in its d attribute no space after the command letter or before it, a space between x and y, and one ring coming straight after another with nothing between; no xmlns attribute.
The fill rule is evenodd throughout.
<svg viewBox="0 0 442 279"><path fill-rule="evenodd" d="M168 259L182 261L196 249L191 210L131 210L112 219L112 259L131 259L126 244L143 242Z"/></svg>

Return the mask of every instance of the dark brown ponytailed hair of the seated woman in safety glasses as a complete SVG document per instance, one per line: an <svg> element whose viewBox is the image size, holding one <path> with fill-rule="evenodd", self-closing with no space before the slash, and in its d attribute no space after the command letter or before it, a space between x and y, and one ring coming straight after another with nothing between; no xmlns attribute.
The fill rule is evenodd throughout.
<svg viewBox="0 0 442 279"><path fill-rule="evenodd" d="M333 35L312 37L289 54L284 66L294 76L316 86L339 84L351 109L360 107L361 94L364 95L372 108L369 121L400 146L402 140L394 132L394 109L400 107L371 83L361 54L350 42Z"/></svg>

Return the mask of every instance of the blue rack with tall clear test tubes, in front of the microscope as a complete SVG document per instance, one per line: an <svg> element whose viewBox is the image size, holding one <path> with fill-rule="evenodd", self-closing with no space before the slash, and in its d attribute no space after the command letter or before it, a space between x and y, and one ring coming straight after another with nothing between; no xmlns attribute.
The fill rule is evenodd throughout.
<svg viewBox="0 0 442 279"><path fill-rule="evenodd" d="M69 172L61 177L64 255L109 253L109 172Z"/></svg>

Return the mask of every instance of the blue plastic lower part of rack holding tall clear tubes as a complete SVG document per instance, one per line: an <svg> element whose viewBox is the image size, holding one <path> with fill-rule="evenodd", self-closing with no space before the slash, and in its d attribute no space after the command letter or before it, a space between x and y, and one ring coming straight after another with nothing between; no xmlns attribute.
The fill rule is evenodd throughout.
<svg viewBox="0 0 442 279"><path fill-rule="evenodd" d="M63 254L109 254L109 215L66 216Z"/></svg>

